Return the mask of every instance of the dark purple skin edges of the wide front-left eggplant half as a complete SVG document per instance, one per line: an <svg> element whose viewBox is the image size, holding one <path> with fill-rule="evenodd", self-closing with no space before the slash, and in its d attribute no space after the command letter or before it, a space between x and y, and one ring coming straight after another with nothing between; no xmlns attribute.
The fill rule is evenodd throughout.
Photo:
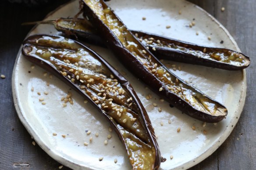
<svg viewBox="0 0 256 170"><path fill-rule="evenodd" d="M81 83L78 80L75 80L75 83L72 83L71 80L69 80L67 77L63 76L60 73L60 71L58 71L50 62L47 62L46 60L43 60L42 58L38 58L38 57L35 57L35 56L30 56L25 52L26 45L31 44L30 40L33 40L33 39L38 38L40 36L60 37L60 36L56 36L56 35L32 35L32 36L26 38L23 42L23 47L22 47L22 50L21 50L21 52L25 56L25 58L28 59L30 62L35 63L36 65L42 67L43 69L46 69L47 71L52 73L54 76L57 76L60 80L62 80L68 86L72 87L79 94L81 94L83 97L85 97L85 99L88 100L101 114L103 114L103 116L107 119L107 121L110 122L110 126L117 133L119 139L122 141L123 145L126 148L127 146L124 144L124 139L122 138L122 135L118 131L117 125L115 125L113 123L113 121L111 121L110 116L108 116L105 111L103 111L101 108L99 108L94 103L94 101L92 101L92 99L89 96L87 96L87 94L85 94L81 90L81 88L78 86ZM143 126L146 129L146 132L149 135L149 140L150 140L150 142L152 142L152 144L155 148L156 155L155 155L154 169L158 169L160 167L161 161L164 162L166 159L162 158L161 155L160 155L160 149L159 149L159 146L156 142L156 135L155 135L152 123L149 119L149 116L146 112L146 109L144 108L141 101L139 100L139 97L137 96L136 92L134 91L131 83L129 83L128 80L126 80L124 78L124 76L121 75L121 73L119 73L116 69L114 69L114 67L112 67L105 59L103 59L100 55L98 55L92 49L89 49L88 47L81 44L80 42L77 42L75 40L73 40L73 41L76 42L78 45L81 45L83 48L85 48L86 50L91 52L93 55L95 55L97 57L97 59L99 59L100 62L102 62L110 70L110 72L113 73L114 77L116 77L117 81L121 83L122 87L125 90L127 90L128 93L131 94L133 100L135 101L135 104L137 104L137 107L139 108L139 113L141 113L141 114L138 114L138 115L139 115L140 119L142 120ZM126 148L126 150L127 150L127 148ZM128 150L127 150L127 153L128 153Z"/></svg>

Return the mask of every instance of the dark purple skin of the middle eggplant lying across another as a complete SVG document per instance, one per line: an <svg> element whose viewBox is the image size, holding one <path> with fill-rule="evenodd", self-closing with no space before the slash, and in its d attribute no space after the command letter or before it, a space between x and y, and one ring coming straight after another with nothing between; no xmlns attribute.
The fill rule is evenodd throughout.
<svg viewBox="0 0 256 170"><path fill-rule="evenodd" d="M104 3L103 1L100 1L101 3ZM164 98L166 101L168 101L170 104L174 105L174 107L178 108L182 112L188 114L189 116L196 118L201 121L214 123L219 122L222 119L226 118L226 115L228 114L228 111L225 112L225 115L219 115L214 116L210 114L206 114L202 111L199 111L192 107L192 105L185 102L185 100L178 97L176 94L172 93L170 90L167 89L167 87L163 87L162 91L159 91L160 87L162 87L162 83L156 79L156 77L150 73L140 62L139 60L135 59L135 57L132 55L131 52L128 51L128 49L124 48L122 43L119 41L119 39L114 35L114 33L110 30L110 28L107 27L106 24L103 23L103 21L100 20L99 17L96 16L96 14L88 7L83 1L81 1L81 4L83 6L83 16L85 18L89 18L89 21L92 23L92 25L96 28L96 31L99 33L105 44L109 49L114 52L115 56L123 63L123 65L130 70L135 76L137 76L139 79L141 79L144 83L149 85L149 88L153 90L156 94L158 94L160 97ZM106 4L107 6L107 4ZM111 10L111 9L110 9ZM111 10L115 17L117 15L114 13L113 10ZM119 17L117 17L119 19ZM119 19L120 20L120 19ZM121 21L121 20L120 20ZM121 21L123 24L123 22ZM124 25L124 24L123 24ZM129 31L129 30L128 30ZM131 33L132 34L132 33ZM134 38L135 35L133 35ZM136 42L136 44L142 45L139 41ZM143 45L142 45L143 46ZM153 56L149 50L145 48L146 52L149 53L157 62L159 62L160 66L167 69L156 57ZM131 69L132 68L132 69ZM167 69L168 70L168 69ZM182 83L188 85L189 87L194 88L198 93L203 94L201 91L197 90L195 87L185 83L183 80L180 80ZM208 97L210 100L214 101L210 97ZM223 104L220 104L217 101L214 101L218 103L221 107L225 108Z"/></svg>

